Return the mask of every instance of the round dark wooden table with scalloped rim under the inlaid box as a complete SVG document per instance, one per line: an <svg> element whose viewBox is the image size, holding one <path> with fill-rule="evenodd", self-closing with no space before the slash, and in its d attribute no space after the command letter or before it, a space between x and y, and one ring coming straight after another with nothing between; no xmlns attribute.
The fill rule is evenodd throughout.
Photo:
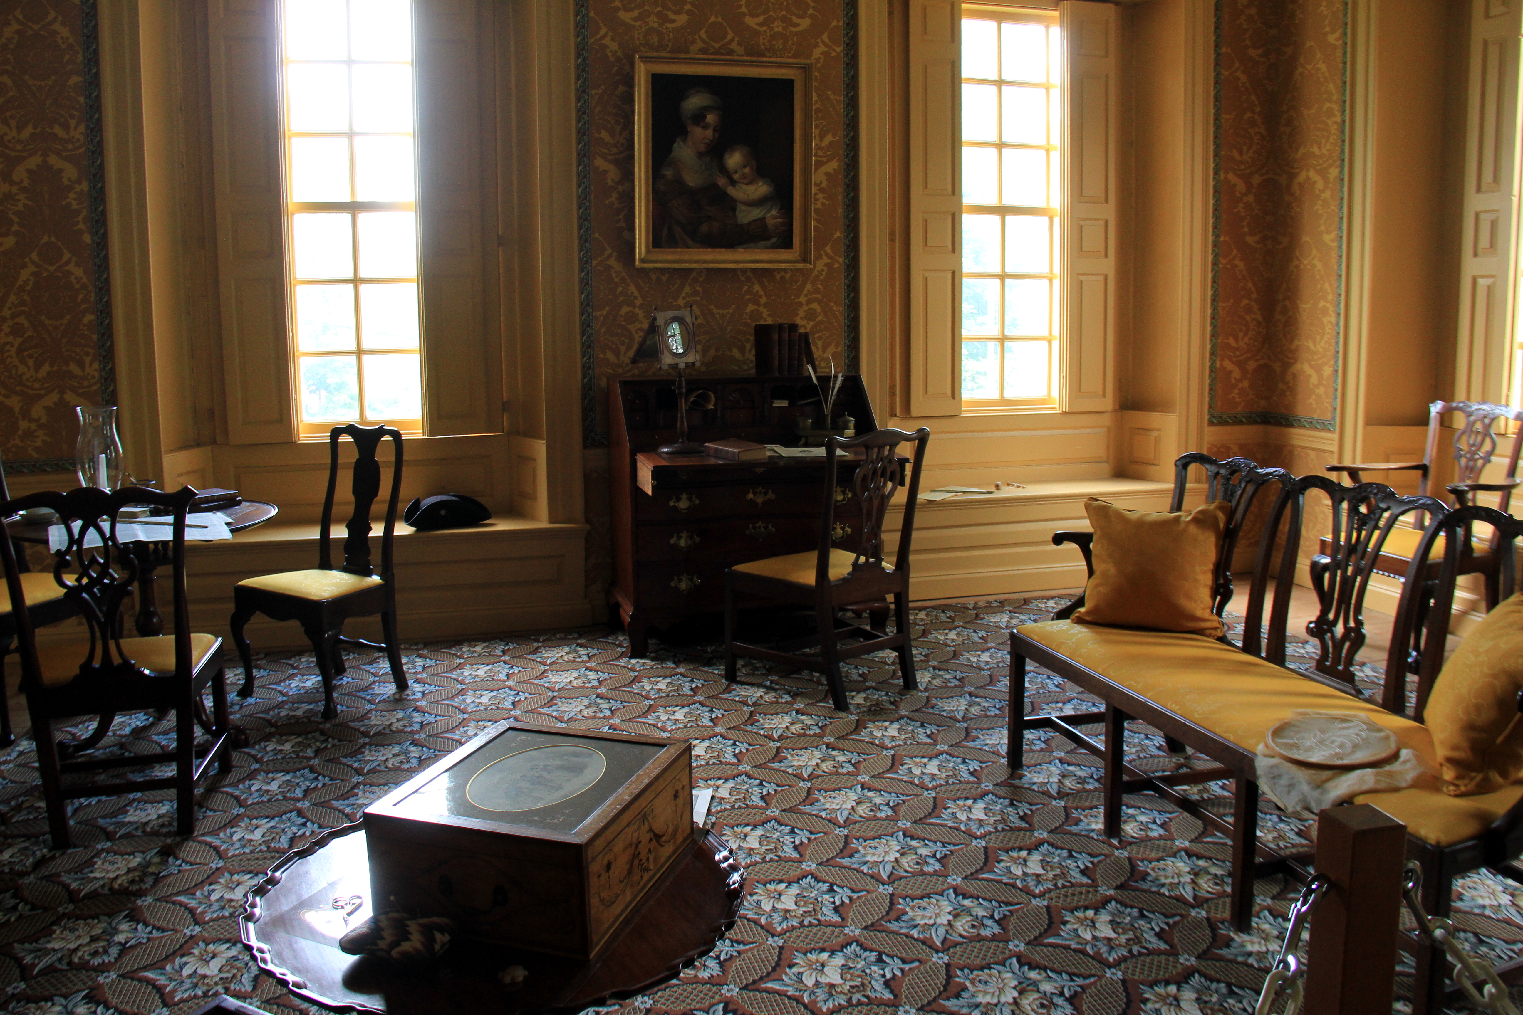
<svg viewBox="0 0 1523 1015"><path fill-rule="evenodd" d="M580 1012L667 983L713 951L740 912L742 883L725 840L694 831L687 855L592 960L457 939L437 966L410 971L338 950L338 937L372 913L366 835L356 822L282 857L248 893L239 928L260 969L338 1012ZM346 916L355 896L361 905ZM498 974L509 966L527 977L503 983Z"/></svg>

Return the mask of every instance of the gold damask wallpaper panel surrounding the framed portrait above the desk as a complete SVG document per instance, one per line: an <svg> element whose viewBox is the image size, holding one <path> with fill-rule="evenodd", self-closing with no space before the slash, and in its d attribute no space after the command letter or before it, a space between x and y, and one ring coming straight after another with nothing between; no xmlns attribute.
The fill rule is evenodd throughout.
<svg viewBox="0 0 1523 1015"><path fill-rule="evenodd" d="M609 377L631 367L650 307L694 304L701 374L752 370L751 326L798 321L819 358L842 362L844 0L588 0L592 362L597 434ZM635 53L809 59L813 65L813 265L635 268ZM675 137L675 131L673 131ZM602 443L592 432L586 441Z"/></svg>

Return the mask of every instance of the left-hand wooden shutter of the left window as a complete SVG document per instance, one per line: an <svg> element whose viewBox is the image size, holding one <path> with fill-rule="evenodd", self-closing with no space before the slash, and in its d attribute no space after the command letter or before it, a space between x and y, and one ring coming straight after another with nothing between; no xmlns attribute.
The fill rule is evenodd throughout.
<svg viewBox="0 0 1523 1015"><path fill-rule="evenodd" d="M276 0L213 0L207 32L227 438L292 441Z"/></svg>

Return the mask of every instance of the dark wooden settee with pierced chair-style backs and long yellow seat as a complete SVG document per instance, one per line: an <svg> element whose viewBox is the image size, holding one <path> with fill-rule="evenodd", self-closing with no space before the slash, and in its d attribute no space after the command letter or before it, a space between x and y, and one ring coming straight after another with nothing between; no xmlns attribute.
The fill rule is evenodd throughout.
<svg viewBox="0 0 1523 1015"><path fill-rule="evenodd" d="M1199 460L1197 460L1199 461ZM1202 463L1206 464L1206 463ZM1221 463L1218 463L1221 464ZM1244 469L1255 478L1263 470ZM1209 475L1209 472L1208 472ZM1292 670L1285 657L1285 618L1293 584L1301 533L1307 516L1307 495L1319 490L1333 508L1333 552L1314 558L1323 600L1308 633L1319 642L1319 657L1311 673ZM1229 490L1228 493L1232 493ZM1241 495L1240 495L1241 496ZM1176 502L1180 498L1176 496ZM1229 498L1231 499L1231 498ZM1363 644L1363 595L1374 572L1384 539L1404 519L1418 511L1432 513L1421 554L1413 568L1427 562L1433 546L1444 542L1445 563L1436 583L1409 580L1387 656L1381 702L1359 695L1354 686L1354 653ZM1234 511L1232 523L1241 531L1246 511ZM1523 523L1488 508L1448 513L1432 498L1403 498L1389 487L1362 484L1342 487L1325 476L1304 476L1282 484L1269 525L1261 539L1252 575L1246 625L1240 644L1226 638L1211 641L1199 635L1098 627L1068 619L1027 624L1011 635L1011 778L1019 778L1025 730L1049 729L1074 740L1104 761L1104 829L1118 837L1122 796L1153 791L1206 826L1223 832L1232 843L1231 919L1246 928L1253 912L1253 878L1273 869L1305 877L1305 855L1279 855L1256 843L1258 784L1256 747L1266 730L1296 709L1363 712L1390 729L1404 747L1433 759L1433 744L1421 724L1421 706L1442 665L1448 632L1453 581L1461 569L1461 548L1468 545L1470 527L1493 525L1499 546L1511 554ZM1284 527L1284 551L1273 563L1273 536ZM1234 533L1235 536L1237 533ZM1060 534L1055 542L1072 542ZM1087 555L1087 554L1086 554ZM1267 578L1275 572L1269 625L1264 621ZM1511 575L1505 580L1511 593ZM1432 600L1430 600L1432 597ZM1421 628L1421 633L1419 633ZM1422 651L1435 645L1433 651ZM1415 651L1413 651L1415 650ZM1077 715L1027 715L1027 660L1072 682L1098 697L1100 712ZM1407 679L1418 676L1416 698L1410 709ZM1170 746L1182 746L1215 762L1209 768L1174 773L1148 773L1127 762L1125 723L1142 720L1157 729ZM1103 743L1077 726L1101 723ZM1231 781L1232 819L1226 820L1179 793L1188 784ZM1430 913L1448 910L1451 881L1480 866L1500 869L1523 851L1523 785L1502 791L1450 797L1436 790L1371 793L1359 802L1374 803L1409 828L1409 854L1424 866L1424 896ZM1429 948L1418 951L1418 1012L1442 1010L1444 957Z"/></svg>

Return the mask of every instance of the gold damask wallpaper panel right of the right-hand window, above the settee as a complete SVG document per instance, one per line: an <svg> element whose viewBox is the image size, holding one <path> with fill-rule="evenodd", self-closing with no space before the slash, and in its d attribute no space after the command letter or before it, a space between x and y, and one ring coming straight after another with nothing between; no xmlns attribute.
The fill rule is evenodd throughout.
<svg viewBox="0 0 1523 1015"><path fill-rule="evenodd" d="M1217 0L1212 423L1333 429L1346 0Z"/></svg>

